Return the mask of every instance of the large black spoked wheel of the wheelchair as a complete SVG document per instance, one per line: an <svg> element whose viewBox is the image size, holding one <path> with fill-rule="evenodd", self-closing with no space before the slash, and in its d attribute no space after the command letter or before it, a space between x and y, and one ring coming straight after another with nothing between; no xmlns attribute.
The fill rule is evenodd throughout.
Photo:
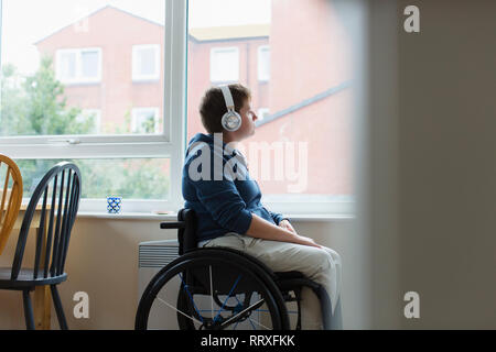
<svg viewBox="0 0 496 352"><path fill-rule="evenodd" d="M153 277L136 328L282 330L289 323L280 292L260 267L234 253L198 250Z"/></svg>

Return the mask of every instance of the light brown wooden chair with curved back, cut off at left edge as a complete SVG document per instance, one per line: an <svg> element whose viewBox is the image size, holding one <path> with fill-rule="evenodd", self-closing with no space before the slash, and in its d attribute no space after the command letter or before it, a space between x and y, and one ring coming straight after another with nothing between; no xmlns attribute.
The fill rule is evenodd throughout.
<svg viewBox="0 0 496 352"><path fill-rule="evenodd" d="M0 175L0 187L3 184L3 189L0 188L0 254L6 248L22 202L21 172L10 157L0 154L0 172L4 168L7 168L6 178Z"/></svg>

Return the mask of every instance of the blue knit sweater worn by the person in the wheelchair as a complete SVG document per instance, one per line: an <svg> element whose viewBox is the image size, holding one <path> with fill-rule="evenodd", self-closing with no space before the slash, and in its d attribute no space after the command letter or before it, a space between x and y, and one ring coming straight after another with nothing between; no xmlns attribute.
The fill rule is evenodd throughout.
<svg viewBox="0 0 496 352"><path fill-rule="evenodd" d="M184 207L198 219L198 242L227 232L245 234L252 213L274 224L284 219L261 205L260 187L250 178L242 155L224 142L214 144L213 134L197 133L190 141L182 191Z"/></svg>

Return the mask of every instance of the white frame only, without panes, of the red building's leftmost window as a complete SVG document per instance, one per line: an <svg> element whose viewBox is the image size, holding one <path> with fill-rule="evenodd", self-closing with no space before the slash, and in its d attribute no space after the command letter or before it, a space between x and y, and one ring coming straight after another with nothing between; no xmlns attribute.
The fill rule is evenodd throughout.
<svg viewBox="0 0 496 352"><path fill-rule="evenodd" d="M83 53L85 52L97 52L97 75L96 77L84 77L83 76ZM61 77L61 65L63 54L76 54L76 67L75 67L75 78L64 79ZM101 47L89 46L89 47L73 47L73 48L60 48L55 53L55 77L64 85L85 85L85 84L99 84L101 82L101 62L103 62L103 51Z"/></svg>

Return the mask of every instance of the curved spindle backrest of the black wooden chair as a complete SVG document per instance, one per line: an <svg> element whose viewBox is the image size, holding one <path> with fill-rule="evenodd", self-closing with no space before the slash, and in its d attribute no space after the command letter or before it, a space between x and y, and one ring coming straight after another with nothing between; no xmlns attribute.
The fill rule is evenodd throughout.
<svg viewBox="0 0 496 352"><path fill-rule="evenodd" d="M28 232L33 213L37 211L36 205L41 199L43 205L40 209L40 227L36 235L34 279L37 278L40 270L43 270L43 277L54 277L64 274L64 263L68 250L71 231L79 208L79 168L73 163L58 163L45 174L36 186L28 205L28 210L19 233L11 279L15 279L20 273ZM45 235L46 240L43 241Z"/></svg>

